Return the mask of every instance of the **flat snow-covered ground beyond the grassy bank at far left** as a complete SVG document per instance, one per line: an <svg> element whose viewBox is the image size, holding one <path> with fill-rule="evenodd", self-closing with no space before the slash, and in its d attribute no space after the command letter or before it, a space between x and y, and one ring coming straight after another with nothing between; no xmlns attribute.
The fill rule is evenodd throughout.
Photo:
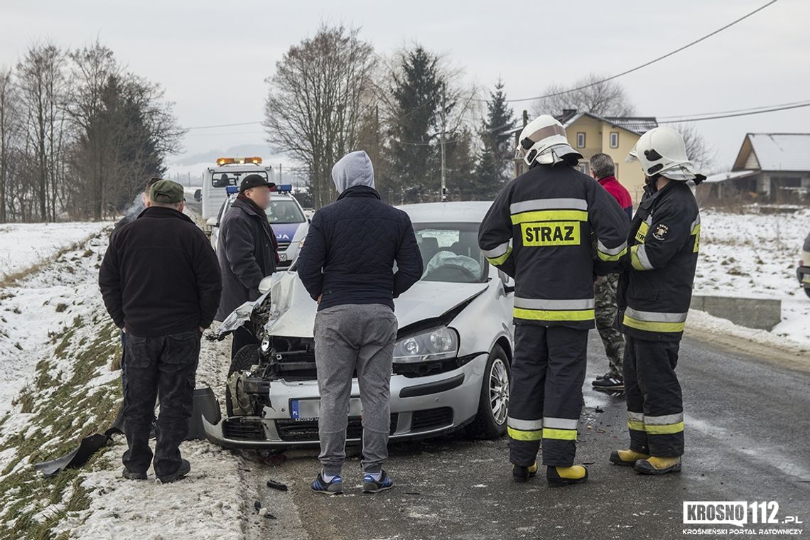
<svg viewBox="0 0 810 540"><path fill-rule="evenodd" d="M0 279L45 261L110 225L104 221L0 224Z"/></svg>

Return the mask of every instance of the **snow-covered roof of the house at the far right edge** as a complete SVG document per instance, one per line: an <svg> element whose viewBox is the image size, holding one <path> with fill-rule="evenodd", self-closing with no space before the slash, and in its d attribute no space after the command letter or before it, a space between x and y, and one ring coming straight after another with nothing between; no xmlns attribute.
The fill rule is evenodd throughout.
<svg viewBox="0 0 810 540"><path fill-rule="evenodd" d="M810 133L749 133L732 171L810 171Z"/></svg>

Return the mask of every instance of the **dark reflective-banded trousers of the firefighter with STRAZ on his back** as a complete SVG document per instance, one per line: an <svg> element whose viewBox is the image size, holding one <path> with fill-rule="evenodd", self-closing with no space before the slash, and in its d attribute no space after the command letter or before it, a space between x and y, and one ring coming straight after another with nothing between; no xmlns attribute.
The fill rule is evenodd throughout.
<svg viewBox="0 0 810 540"><path fill-rule="evenodd" d="M515 325L509 392L509 461L568 467L577 452L588 330Z"/></svg>

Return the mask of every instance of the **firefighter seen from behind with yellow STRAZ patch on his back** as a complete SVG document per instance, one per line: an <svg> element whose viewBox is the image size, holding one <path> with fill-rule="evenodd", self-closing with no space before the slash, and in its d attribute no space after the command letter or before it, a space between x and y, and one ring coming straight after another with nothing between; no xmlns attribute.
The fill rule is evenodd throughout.
<svg viewBox="0 0 810 540"><path fill-rule="evenodd" d="M594 276L625 254L628 219L576 168L582 155L554 117L523 128L516 158L529 169L501 189L478 233L488 261L515 280L509 461L515 481L535 476L542 439L548 484L583 483L588 471L573 461Z"/></svg>

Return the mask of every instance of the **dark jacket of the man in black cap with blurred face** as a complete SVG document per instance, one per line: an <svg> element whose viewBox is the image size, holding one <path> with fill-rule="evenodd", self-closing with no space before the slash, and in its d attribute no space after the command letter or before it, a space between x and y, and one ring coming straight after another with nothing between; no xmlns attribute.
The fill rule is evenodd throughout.
<svg viewBox="0 0 810 540"><path fill-rule="evenodd" d="M217 321L260 296L258 283L275 272L277 251L278 242L264 211L249 200L237 198L220 223L216 244L222 272Z"/></svg>

